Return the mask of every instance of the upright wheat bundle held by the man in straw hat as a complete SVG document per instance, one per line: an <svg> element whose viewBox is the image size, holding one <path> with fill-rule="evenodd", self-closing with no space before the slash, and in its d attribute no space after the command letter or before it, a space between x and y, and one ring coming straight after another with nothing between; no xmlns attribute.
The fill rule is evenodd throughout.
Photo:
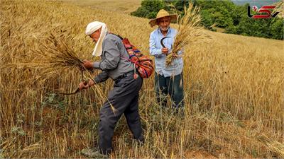
<svg viewBox="0 0 284 159"><path fill-rule="evenodd" d="M180 20L178 19L178 34L175 37L172 52L166 58L167 66L178 56L178 51L182 48L209 38L209 35L204 33L200 25L201 16L199 11L199 7L194 7L193 4L190 4L188 8L185 7L185 15Z"/></svg>

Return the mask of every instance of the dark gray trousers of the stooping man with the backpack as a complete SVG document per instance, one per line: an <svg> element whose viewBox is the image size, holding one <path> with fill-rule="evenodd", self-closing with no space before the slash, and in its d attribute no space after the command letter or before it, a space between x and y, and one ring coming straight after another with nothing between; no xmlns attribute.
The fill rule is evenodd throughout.
<svg viewBox="0 0 284 159"><path fill-rule="evenodd" d="M143 79L133 75L126 76L114 83L114 89L109 92L108 100L104 102L99 114L99 150L103 154L111 153L111 140L116 122L124 113L133 138L143 141L143 131L138 112L139 90ZM111 109L114 107L115 110Z"/></svg>

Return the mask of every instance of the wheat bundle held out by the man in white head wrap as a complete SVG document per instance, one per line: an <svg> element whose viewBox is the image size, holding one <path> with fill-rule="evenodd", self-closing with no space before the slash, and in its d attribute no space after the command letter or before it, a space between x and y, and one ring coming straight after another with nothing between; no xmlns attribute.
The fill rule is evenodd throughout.
<svg viewBox="0 0 284 159"><path fill-rule="evenodd" d="M31 81L39 78L45 81L60 75L67 69L79 69L84 71L81 58L67 45L66 34L50 33L48 38L35 37L35 49L29 49L29 54L23 54L23 58L17 58L17 62L9 62L1 65L1 69L29 69L36 70L36 76ZM1 57L4 58L4 57ZM92 77L89 75L89 77Z"/></svg>

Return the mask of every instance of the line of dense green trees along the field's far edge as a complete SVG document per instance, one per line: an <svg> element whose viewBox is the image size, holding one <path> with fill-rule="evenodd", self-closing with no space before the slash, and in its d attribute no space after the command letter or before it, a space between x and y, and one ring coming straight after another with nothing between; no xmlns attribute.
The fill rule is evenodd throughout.
<svg viewBox="0 0 284 159"><path fill-rule="evenodd" d="M238 6L230 0L143 0L141 7L131 15L149 19L155 18L162 8L171 12L169 4L173 4L182 14L184 6L188 6L189 3L201 7L202 25L209 30L215 31L216 28L212 27L214 25L217 28L223 28L224 33L283 40L284 18L280 16L265 19L249 18L247 16L249 4ZM256 12L251 10L251 14L256 14Z"/></svg>

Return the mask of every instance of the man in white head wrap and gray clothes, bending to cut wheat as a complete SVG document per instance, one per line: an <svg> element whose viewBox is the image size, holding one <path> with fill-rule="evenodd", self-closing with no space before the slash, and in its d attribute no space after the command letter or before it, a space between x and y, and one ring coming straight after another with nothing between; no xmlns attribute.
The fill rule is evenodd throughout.
<svg viewBox="0 0 284 159"><path fill-rule="evenodd" d="M111 139L114 135L116 122L124 113L133 138L143 142L143 131L138 113L139 90L143 79L138 76L133 78L134 66L128 61L129 54L121 39L107 32L107 25L101 22L92 22L87 25L86 35L96 42L94 56L101 56L101 61L84 61L86 69L102 70L93 80L84 85L80 83L80 90L89 88L94 84L111 78L115 81L114 88L109 92L108 99L104 102L99 113L99 150L84 149L82 153L92 158L102 158L112 151ZM124 58L121 58L124 57ZM111 109L115 108L115 112Z"/></svg>

